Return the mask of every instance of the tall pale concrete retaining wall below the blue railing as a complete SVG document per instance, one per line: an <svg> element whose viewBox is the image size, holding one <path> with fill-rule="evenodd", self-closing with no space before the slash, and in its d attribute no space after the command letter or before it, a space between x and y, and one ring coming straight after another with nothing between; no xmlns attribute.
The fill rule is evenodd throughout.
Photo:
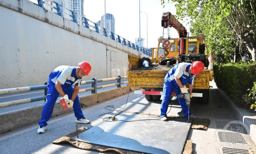
<svg viewBox="0 0 256 154"><path fill-rule="evenodd" d="M47 11L28 0L0 0L0 89L42 85L59 65L89 61L83 80L127 75L122 43Z"/></svg>

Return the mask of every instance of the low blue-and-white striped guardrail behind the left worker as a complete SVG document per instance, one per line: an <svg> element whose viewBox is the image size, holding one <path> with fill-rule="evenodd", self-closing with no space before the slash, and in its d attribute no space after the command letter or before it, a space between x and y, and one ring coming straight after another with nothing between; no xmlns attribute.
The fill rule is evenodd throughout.
<svg viewBox="0 0 256 154"><path fill-rule="evenodd" d="M91 93L95 94L95 93L97 93L97 89L108 88L108 87L116 86L116 85L117 85L118 88L120 88L122 84L128 83L128 81L123 82L122 79L127 79L127 76L120 76L119 75L118 77L113 77L113 78L105 78L105 79L93 78L92 80L82 81L81 84L91 83L91 88L80 89L79 93L91 91ZM107 81L114 81L114 80L117 80L117 83L98 86L99 82L107 82ZM46 84L47 84L47 82L46 82ZM3 102L3 103L0 103L0 108L11 107L11 106L14 106L14 105L20 105L20 104L45 100L46 99L46 90L47 90L47 85L46 84L45 85L19 87L19 88L0 89L0 95L29 92L29 91L33 91L33 90L42 90L42 89L45 90L45 96L33 97L33 98L27 98L27 99L20 99L20 100L9 101L9 102Z"/></svg>

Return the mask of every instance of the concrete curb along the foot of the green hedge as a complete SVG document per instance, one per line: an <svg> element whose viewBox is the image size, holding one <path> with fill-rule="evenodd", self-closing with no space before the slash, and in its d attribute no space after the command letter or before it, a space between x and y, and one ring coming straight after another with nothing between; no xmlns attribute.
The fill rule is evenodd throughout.
<svg viewBox="0 0 256 154"><path fill-rule="evenodd" d="M219 88L217 89L222 97L226 100L231 110L234 112L236 118L248 126L248 128L250 129L250 137L252 138L254 143L256 143L256 114L247 112L244 108L237 107L233 100L231 100L224 91Z"/></svg>

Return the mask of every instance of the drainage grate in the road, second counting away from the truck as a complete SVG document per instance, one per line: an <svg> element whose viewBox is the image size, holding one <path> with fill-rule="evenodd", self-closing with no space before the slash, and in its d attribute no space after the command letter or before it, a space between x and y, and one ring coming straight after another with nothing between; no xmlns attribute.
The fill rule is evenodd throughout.
<svg viewBox="0 0 256 154"><path fill-rule="evenodd" d="M224 129L230 121L215 121L216 129ZM246 129L237 123L229 123L229 127L226 130L246 134Z"/></svg>

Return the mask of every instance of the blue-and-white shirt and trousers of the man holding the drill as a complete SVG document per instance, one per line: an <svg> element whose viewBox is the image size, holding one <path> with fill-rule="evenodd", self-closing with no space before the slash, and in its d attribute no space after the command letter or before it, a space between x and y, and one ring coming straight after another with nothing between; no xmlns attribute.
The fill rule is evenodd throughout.
<svg viewBox="0 0 256 154"><path fill-rule="evenodd" d="M190 68L190 63L179 63L175 65L165 76L165 81L163 83L163 99L161 103L161 117L167 116L166 112L169 106L169 101L172 92L174 91L176 96L181 93L181 89L177 82L175 81L175 77L181 80L182 85L186 83L194 84L195 75L189 74L188 70ZM181 108L183 110L184 117L188 116L188 107L186 104L186 100L184 98L177 98ZM189 110L189 116L191 115Z"/></svg>

